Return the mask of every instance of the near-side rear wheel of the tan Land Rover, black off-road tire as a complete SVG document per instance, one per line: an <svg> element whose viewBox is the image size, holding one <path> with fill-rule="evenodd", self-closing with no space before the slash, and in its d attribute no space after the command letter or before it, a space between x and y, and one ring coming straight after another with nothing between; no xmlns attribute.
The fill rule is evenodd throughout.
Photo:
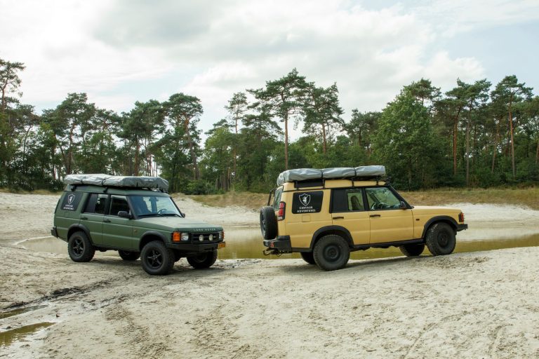
<svg viewBox="0 0 539 359"><path fill-rule="evenodd" d="M330 234L320 238L312 252L314 262L324 271L335 271L346 266L350 248L345 238Z"/></svg>

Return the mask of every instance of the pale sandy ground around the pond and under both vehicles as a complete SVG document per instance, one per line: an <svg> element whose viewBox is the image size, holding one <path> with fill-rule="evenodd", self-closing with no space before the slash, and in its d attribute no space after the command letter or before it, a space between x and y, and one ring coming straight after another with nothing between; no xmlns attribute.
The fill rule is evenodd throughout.
<svg viewBox="0 0 539 359"><path fill-rule="evenodd" d="M182 259L151 277L118 257L75 264L20 248L48 235L57 200L0 194L0 309L34 309L0 319L0 337L54 323L0 341L0 358L539 357L539 248L350 261L333 272L296 259L195 271ZM258 221L244 208L177 201L208 222ZM485 231L539 232L539 211L458 206Z"/></svg>

